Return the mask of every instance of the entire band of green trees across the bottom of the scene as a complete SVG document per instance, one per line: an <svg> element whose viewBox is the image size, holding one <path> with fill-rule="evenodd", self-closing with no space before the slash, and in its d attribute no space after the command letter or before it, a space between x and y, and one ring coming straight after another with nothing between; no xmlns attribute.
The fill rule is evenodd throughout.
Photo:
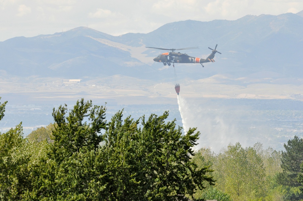
<svg viewBox="0 0 303 201"><path fill-rule="evenodd" d="M5 104L0 104L0 119ZM195 151L200 133L195 128L182 133L176 120L167 120L168 111L133 119L119 110L106 119L106 109L81 99L72 109L54 108L54 122L26 138L22 122L1 133L0 199L301 198L298 187L280 182L303 183L298 137L282 153L263 150L261 143L246 148L236 143L215 154L207 148Z"/></svg>

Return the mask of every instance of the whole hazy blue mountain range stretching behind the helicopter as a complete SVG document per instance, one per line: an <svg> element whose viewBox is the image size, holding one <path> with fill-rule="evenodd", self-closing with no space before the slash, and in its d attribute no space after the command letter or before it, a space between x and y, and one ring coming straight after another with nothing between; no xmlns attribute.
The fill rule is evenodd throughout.
<svg viewBox="0 0 303 201"><path fill-rule="evenodd" d="M78 27L52 35L16 37L0 42L0 70L11 76L82 78L122 74L161 80L171 76L171 69L152 61L163 51L146 46L198 46L185 53L206 58L211 53L208 47L218 44L222 54L215 55L215 63L205 64L203 69L199 64L176 64L180 76L303 78L302 12L246 15L234 21L178 21L147 34L112 36Z"/></svg>

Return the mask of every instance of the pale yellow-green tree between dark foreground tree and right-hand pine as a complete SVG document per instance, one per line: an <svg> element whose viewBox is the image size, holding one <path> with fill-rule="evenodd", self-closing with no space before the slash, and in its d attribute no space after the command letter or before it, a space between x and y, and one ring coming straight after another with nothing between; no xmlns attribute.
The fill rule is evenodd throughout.
<svg viewBox="0 0 303 201"><path fill-rule="evenodd" d="M265 168L254 147L242 148L240 143L229 144L218 154L215 164L218 188L234 200L264 196Z"/></svg>

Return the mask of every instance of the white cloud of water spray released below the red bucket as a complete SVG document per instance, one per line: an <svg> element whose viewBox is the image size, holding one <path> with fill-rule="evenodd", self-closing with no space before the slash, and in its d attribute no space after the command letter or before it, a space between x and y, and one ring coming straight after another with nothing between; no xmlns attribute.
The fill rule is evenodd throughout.
<svg viewBox="0 0 303 201"><path fill-rule="evenodd" d="M256 143L248 145L247 138L239 134L237 124L241 114L230 114L226 106L208 105L205 101L198 103L197 100L185 99L181 94L178 95L178 105L184 132L197 127L201 133L196 150L205 147L218 153L229 143L240 142L244 147Z"/></svg>

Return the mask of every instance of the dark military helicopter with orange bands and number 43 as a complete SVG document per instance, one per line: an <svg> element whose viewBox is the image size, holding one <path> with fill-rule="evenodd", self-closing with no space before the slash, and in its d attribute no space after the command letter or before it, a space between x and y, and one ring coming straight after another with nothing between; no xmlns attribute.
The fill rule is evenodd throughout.
<svg viewBox="0 0 303 201"><path fill-rule="evenodd" d="M214 57L215 54L218 52L217 49L218 44L216 44L215 49L211 49L208 47L208 49L211 49L211 54L208 55L206 59L201 59L198 57L191 57L187 54L183 54L180 52L175 52L176 50L189 50L189 49L198 49L198 47L191 47L191 48L181 48L181 49L165 49L165 48L154 48L158 50L170 50L170 52L165 52L163 54L159 54L158 57L154 58L154 61L162 62L165 66L166 64L168 66L173 63L173 66L175 67L175 63L198 63L201 64L202 67L204 67L203 63L207 62L215 62ZM146 48L152 48L152 47L146 47ZM218 52L221 54L221 52Z"/></svg>

